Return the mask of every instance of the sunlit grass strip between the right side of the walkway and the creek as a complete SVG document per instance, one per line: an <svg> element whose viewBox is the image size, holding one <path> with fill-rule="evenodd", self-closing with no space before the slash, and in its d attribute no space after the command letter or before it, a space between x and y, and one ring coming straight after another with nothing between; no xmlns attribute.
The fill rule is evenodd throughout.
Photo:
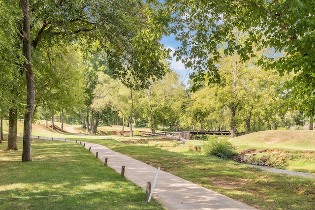
<svg viewBox="0 0 315 210"><path fill-rule="evenodd" d="M161 167L163 171L261 210L312 210L315 207L314 179L272 174L200 152L170 152L115 140L88 141Z"/></svg>

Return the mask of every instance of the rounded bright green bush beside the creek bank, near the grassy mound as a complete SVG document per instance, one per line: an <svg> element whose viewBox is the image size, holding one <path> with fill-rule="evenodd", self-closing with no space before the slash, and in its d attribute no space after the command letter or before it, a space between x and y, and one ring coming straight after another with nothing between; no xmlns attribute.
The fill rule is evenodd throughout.
<svg viewBox="0 0 315 210"><path fill-rule="evenodd" d="M229 159L235 152L233 146L227 139L212 139L203 144L203 150L206 154L221 157L222 159Z"/></svg>

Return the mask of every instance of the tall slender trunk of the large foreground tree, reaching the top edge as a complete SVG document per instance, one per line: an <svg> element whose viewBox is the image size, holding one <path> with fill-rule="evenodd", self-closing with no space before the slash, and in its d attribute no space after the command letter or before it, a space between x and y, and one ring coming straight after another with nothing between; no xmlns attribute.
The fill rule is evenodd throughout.
<svg viewBox="0 0 315 210"><path fill-rule="evenodd" d="M29 0L21 0L23 15L23 55L26 58L24 67L26 69L27 86L27 107L24 115L24 134L23 134L23 152L22 161L32 161L32 120L35 109L35 80L32 71L31 57L31 25L30 25L30 7Z"/></svg>

